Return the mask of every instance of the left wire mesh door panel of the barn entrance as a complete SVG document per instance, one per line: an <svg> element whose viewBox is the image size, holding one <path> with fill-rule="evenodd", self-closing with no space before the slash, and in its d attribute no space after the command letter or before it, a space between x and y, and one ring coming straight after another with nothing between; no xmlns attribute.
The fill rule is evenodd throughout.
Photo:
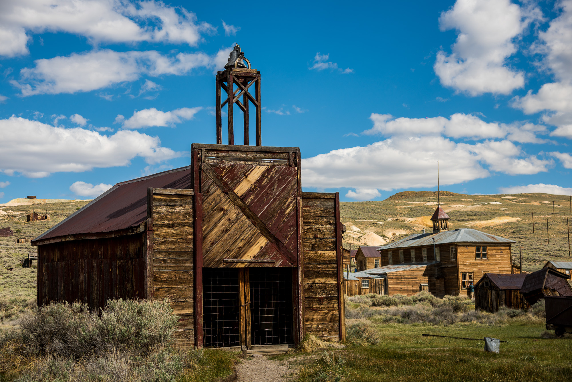
<svg viewBox="0 0 572 382"><path fill-rule="evenodd" d="M240 324L239 271L202 268L204 346L240 346Z"/></svg>

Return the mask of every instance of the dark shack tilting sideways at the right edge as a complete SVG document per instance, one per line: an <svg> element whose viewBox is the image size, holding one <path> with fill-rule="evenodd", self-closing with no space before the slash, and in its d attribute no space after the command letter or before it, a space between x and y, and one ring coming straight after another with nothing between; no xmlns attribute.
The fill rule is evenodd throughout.
<svg viewBox="0 0 572 382"><path fill-rule="evenodd" d="M530 305L545 296L572 296L572 288L566 281L568 276L552 268L542 268L527 273L522 283L521 294Z"/></svg>

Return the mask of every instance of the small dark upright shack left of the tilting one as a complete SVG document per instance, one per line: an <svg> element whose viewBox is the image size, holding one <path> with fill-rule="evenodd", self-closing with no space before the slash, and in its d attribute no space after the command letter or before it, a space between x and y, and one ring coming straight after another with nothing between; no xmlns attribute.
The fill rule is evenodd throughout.
<svg viewBox="0 0 572 382"><path fill-rule="evenodd" d="M500 307L528 309L529 303L521 295L526 274L485 273L475 284L475 307L494 313Z"/></svg>

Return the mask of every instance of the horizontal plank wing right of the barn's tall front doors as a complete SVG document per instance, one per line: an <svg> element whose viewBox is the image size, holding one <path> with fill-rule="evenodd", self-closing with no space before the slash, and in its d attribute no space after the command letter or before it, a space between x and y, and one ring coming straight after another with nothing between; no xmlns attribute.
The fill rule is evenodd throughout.
<svg viewBox="0 0 572 382"><path fill-rule="evenodd" d="M304 329L340 340L335 193L302 193ZM341 250L341 248L340 248ZM338 269L340 268L340 269Z"/></svg>

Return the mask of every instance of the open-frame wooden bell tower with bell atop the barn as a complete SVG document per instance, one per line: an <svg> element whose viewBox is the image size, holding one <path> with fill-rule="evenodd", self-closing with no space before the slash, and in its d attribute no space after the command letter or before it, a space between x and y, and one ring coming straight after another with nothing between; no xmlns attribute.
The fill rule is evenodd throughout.
<svg viewBox="0 0 572 382"><path fill-rule="evenodd" d="M246 64L244 63L246 61ZM244 52L236 44L229 55L224 71L217 72L216 75L216 143L223 144L222 117L223 107L227 106L228 114L228 144L235 144L234 133L234 105L239 106L243 111L244 120L244 145L249 142L249 104L254 105L256 121L256 146L262 146L261 126L260 126L260 71L251 68L250 61L244 57ZM236 89L235 89L236 87ZM253 96L251 87L255 90ZM224 91L224 93L223 93ZM225 101L223 101L223 94ZM243 97L243 102L240 98Z"/></svg>

